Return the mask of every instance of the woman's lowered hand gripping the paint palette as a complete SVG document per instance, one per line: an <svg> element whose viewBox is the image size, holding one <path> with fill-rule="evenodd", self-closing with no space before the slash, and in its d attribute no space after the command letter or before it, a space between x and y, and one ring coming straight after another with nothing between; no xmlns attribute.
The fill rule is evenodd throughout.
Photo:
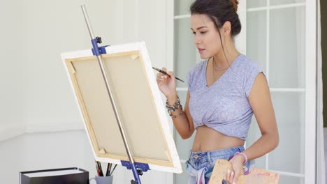
<svg viewBox="0 0 327 184"><path fill-rule="evenodd" d="M234 171L229 171L228 169L225 181L230 184L237 184L238 179L243 175L244 157L242 155L235 155L229 162L231 162Z"/></svg>

